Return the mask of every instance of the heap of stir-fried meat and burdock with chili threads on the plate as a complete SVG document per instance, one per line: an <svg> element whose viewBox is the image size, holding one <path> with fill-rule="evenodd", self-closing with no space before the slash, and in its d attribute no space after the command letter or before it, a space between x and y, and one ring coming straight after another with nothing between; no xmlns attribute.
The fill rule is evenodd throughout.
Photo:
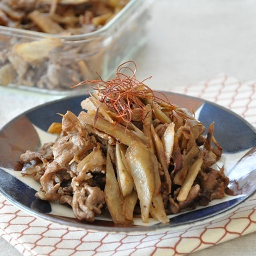
<svg viewBox="0 0 256 256"><path fill-rule="evenodd" d="M86 111L67 111L49 127L59 134L54 143L20 156L22 174L42 185L36 196L68 204L88 222L106 210L115 224L132 224L134 215L167 223L167 214L224 197L228 178L211 167L222 154L214 123L204 136L188 110L138 81L136 65L126 64L110 81L78 84L96 84L81 103Z"/></svg>

